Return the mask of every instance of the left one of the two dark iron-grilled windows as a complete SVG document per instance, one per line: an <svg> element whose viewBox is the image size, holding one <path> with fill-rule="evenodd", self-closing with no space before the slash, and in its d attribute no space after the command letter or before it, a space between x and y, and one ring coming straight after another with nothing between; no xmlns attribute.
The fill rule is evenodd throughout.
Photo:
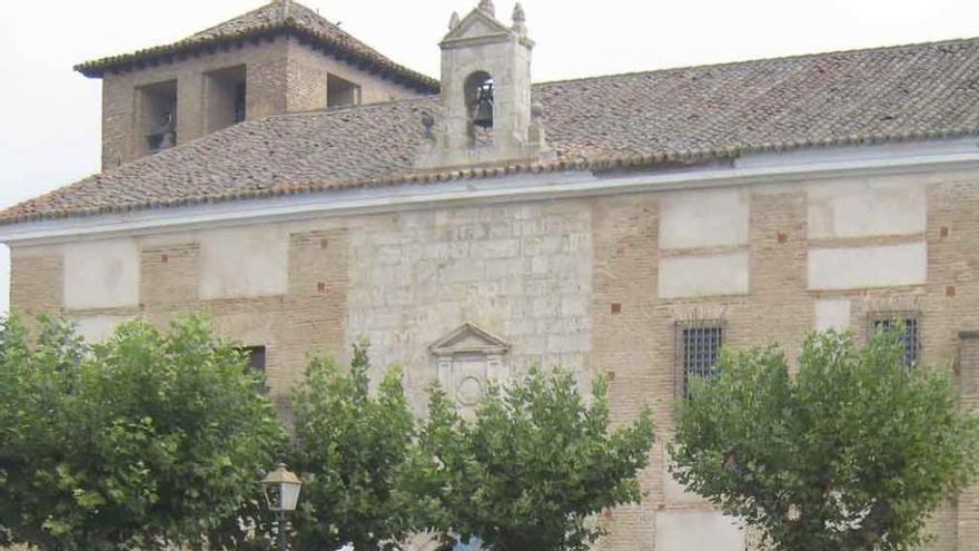
<svg viewBox="0 0 979 551"><path fill-rule="evenodd" d="M699 322L676 326L676 393L690 397L690 381L718 376L718 360L724 342L719 322Z"/></svg>

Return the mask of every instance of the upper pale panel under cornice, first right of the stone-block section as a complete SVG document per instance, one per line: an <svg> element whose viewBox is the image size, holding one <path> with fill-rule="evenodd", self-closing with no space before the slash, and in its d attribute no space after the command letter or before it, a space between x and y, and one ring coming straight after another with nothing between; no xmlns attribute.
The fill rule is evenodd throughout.
<svg viewBox="0 0 979 551"><path fill-rule="evenodd" d="M749 200L746 188L663 195L660 203L660 248L668 250L746 244Z"/></svg>

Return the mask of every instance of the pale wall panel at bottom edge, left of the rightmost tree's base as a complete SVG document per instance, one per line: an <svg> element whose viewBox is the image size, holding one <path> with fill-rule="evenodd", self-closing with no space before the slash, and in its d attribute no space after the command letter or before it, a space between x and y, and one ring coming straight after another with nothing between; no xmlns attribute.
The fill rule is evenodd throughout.
<svg viewBox="0 0 979 551"><path fill-rule="evenodd" d="M744 551L744 529L713 511L659 511L656 551Z"/></svg>

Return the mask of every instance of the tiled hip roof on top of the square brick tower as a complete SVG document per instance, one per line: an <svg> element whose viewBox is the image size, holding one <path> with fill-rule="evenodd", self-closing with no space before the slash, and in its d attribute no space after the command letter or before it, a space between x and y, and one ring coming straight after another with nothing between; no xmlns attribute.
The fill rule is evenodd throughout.
<svg viewBox="0 0 979 551"><path fill-rule="evenodd" d="M170 60L175 55L279 32L300 36L342 59L352 59L375 68L421 91L438 91L437 80L392 61L339 26L294 0L274 0L177 42L86 61L76 66L75 70L86 77L101 77L107 71L139 68L145 63Z"/></svg>

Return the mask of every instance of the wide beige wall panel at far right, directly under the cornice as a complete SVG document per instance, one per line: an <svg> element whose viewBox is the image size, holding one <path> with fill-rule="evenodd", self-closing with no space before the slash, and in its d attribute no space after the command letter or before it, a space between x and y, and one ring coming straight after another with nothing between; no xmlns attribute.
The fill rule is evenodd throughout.
<svg viewBox="0 0 979 551"><path fill-rule="evenodd" d="M812 239L923 234L926 186L900 181L843 181L809 187Z"/></svg>

